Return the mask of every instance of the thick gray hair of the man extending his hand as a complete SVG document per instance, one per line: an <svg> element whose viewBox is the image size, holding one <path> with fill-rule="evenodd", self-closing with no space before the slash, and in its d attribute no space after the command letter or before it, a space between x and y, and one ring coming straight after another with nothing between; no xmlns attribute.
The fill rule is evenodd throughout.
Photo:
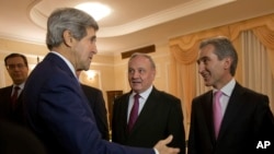
<svg viewBox="0 0 274 154"><path fill-rule="evenodd" d="M62 33L66 29L69 29L77 40L80 40L87 35L88 27L99 29L98 23L88 13L73 8L55 10L47 21L47 48L52 50L53 47L58 47L64 43Z"/></svg>

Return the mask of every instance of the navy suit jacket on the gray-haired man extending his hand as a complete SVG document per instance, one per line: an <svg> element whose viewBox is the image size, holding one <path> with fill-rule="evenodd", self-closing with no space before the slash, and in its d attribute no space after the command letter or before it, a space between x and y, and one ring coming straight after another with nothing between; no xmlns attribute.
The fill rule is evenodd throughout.
<svg viewBox="0 0 274 154"><path fill-rule="evenodd" d="M102 140L76 75L55 54L49 52L32 71L23 100L28 126L49 154L153 154L152 149Z"/></svg>

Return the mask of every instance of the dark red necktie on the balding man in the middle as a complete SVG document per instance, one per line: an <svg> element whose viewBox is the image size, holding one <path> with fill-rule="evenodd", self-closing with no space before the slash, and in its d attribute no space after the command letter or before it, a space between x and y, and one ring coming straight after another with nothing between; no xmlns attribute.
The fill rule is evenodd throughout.
<svg viewBox="0 0 274 154"><path fill-rule="evenodd" d="M132 111L130 111L130 115L129 115L128 125L127 125L127 130L128 130L128 132L132 131L132 129L133 129L133 127L134 127L134 123L135 123L135 121L136 121L137 118L138 118L139 97L140 97L139 94L136 94L136 95L134 96L134 106L133 106L133 108L132 108Z"/></svg>

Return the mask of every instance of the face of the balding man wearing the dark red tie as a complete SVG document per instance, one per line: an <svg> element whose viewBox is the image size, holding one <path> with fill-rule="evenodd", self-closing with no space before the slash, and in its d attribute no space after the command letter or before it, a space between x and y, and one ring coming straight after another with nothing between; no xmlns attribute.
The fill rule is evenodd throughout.
<svg viewBox="0 0 274 154"><path fill-rule="evenodd" d="M148 58L136 56L128 61L128 82L134 92L142 93L148 90L155 75L156 69Z"/></svg>

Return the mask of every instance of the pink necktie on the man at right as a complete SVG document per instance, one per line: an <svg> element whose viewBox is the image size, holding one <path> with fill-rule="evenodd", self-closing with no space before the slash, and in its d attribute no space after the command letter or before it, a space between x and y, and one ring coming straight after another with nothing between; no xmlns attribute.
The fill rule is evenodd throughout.
<svg viewBox="0 0 274 154"><path fill-rule="evenodd" d="M215 138L218 138L219 134L219 128L222 119L221 114L221 106L220 106L220 96L221 91L218 91L215 93L214 96L214 105L213 105L213 112L214 112L214 129L215 129Z"/></svg>

